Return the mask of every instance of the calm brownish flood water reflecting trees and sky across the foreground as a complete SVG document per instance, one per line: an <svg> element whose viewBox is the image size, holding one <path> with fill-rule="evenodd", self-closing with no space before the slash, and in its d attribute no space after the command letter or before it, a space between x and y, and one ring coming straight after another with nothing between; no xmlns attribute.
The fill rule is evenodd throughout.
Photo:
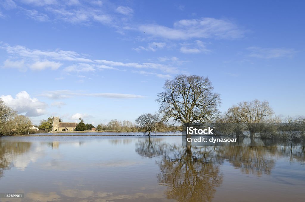
<svg viewBox="0 0 305 202"><path fill-rule="evenodd" d="M189 147L181 136L1 137L0 190L25 196L1 201L304 201L305 147L247 138Z"/></svg>

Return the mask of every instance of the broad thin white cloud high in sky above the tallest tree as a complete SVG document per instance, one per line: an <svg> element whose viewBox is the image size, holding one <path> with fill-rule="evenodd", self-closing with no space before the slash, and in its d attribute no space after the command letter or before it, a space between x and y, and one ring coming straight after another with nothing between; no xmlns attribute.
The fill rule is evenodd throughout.
<svg viewBox="0 0 305 202"><path fill-rule="evenodd" d="M174 23L173 28L146 24L138 27L138 30L155 37L174 40L187 40L191 38L241 38L244 35L235 23L229 20L216 18L201 18L192 20L180 20Z"/></svg>

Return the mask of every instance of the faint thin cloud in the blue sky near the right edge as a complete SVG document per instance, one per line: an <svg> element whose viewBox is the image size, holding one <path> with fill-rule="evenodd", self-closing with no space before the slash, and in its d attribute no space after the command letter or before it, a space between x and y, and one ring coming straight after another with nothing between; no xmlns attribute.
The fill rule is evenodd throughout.
<svg viewBox="0 0 305 202"><path fill-rule="evenodd" d="M248 56L263 58L263 59L292 57L296 53L294 49L285 49L285 48L260 48L254 46L254 47L249 47L247 49L251 51Z"/></svg>

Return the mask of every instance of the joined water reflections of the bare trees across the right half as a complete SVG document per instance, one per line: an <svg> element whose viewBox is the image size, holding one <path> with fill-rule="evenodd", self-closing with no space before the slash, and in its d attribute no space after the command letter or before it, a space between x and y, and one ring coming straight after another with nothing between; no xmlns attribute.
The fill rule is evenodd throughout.
<svg viewBox="0 0 305 202"><path fill-rule="evenodd" d="M303 146L266 143L241 138L227 146L192 147L190 143L182 146L162 138L143 138L138 140L135 150L142 157L160 158L156 160L160 167L157 176L159 183L167 186L168 199L211 201L216 187L222 183L220 166L224 161L244 174L257 176L270 175L279 156L305 162Z"/></svg>

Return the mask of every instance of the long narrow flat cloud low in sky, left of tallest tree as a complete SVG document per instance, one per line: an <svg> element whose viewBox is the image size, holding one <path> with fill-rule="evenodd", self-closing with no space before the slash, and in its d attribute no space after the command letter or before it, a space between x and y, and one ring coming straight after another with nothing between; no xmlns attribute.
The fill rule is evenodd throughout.
<svg viewBox="0 0 305 202"><path fill-rule="evenodd" d="M63 98L70 98L73 96L93 96L93 97L104 97L104 98L115 98L115 99L144 98L144 96L134 95L134 94L84 93L84 92L70 91L70 90L46 91L42 93L40 96L45 96L50 99L63 99Z"/></svg>

